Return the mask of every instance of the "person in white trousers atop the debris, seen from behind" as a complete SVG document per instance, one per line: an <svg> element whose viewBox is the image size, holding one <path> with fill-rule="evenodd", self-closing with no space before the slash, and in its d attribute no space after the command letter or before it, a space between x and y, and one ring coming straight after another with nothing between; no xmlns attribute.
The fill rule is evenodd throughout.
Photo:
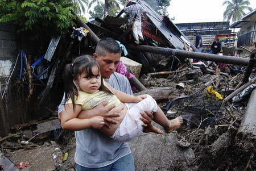
<svg viewBox="0 0 256 171"><path fill-rule="evenodd" d="M127 6L130 2L129 6ZM141 32L141 12L146 12L146 10L137 3L137 0L129 0L125 2L125 8L123 9L126 13L129 14L130 19L132 20L133 36L135 43L139 44L139 40L144 41L142 32Z"/></svg>

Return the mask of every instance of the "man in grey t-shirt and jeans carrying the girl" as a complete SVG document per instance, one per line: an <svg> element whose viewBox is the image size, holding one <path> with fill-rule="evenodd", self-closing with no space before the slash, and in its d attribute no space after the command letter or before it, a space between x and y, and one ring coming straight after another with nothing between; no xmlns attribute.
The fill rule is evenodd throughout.
<svg viewBox="0 0 256 171"><path fill-rule="evenodd" d="M101 74L105 82L108 82L116 90L133 94L129 80L122 74L115 72L121 57L121 48L117 41L109 37L101 39L96 46L93 57L101 66ZM108 122L117 124L117 121L110 117L119 116L120 114L110 112L114 105L105 107L107 104L108 102L104 101L92 110L81 111L78 118L103 116L105 126L110 127ZM59 105L60 120L64 105L65 96ZM153 115L147 110L144 112L141 112L141 120L144 122L143 126L146 127L151 122ZM144 130L144 132L147 131ZM80 137L76 141L76 170L112 170L114 168L124 171L135 170L133 155L127 143L115 141L94 128L76 131L75 134Z"/></svg>

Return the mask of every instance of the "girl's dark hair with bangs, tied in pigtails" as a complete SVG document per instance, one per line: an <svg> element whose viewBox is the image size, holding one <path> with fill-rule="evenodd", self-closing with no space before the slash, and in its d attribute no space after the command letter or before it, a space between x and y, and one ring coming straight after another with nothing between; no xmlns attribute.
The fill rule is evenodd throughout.
<svg viewBox="0 0 256 171"><path fill-rule="evenodd" d="M85 73L86 76L95 77L92 73L93 66L97 66L100 73L100 64L90 55L82 55L76 57L72 61L72 64L67 64L63 72L63 80L65 81L65 102L68 98L71 98L73 109L75 110L75 96L78 96L78 91L73 79L78 79L82 73ZM113 94L104 84L101 77L101 86L99 88L101 91L106 93Z"/></svg>

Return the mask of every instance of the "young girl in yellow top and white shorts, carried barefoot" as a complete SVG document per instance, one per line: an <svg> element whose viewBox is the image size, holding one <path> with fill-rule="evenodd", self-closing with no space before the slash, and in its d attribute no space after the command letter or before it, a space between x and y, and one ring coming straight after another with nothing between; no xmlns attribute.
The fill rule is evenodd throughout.
<svg viewBox="0 0 256 171"><path fill-rule="evenodd" d="M61 116L63 129L79 131L93 127L100 129L114 140L130 141L143 131L142 121L139 119L140 111L153 111L153 120L163 126L167 133L179 128L183 123L181 116L168 120L150 95L134 97L108 85L101 77L100 65L92 56L80 56L72 64L68 64L65 67L63 79L66 81L65 98L67 101ZM78 87L73 83L74 81ZM106 107L115 105L111 112L120 114L114 118L118 124L111 124L110 128L104 127L105 122L102 116L89 119L77 118L81 110L92 109L103 101L108 101ZM162 133L152 124L147 131Z"/></svg>

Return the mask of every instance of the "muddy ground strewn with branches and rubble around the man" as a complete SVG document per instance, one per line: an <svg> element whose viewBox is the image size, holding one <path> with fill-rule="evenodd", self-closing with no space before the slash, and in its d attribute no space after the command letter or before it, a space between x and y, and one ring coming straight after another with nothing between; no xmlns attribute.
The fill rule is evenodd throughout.
<svg viewBox="0 0 256 171"><path fill-rule="evenodd" d="M255 137L237 135L249 95L232 103L205 93L212 85L226 97L240 86L243 74L216 76L187 66L179 70L183 72L151 77L146 87L152 91L170 87L171 98L158 104L162 108L169 104L167 117L181 115L184 124L171 134L143 133L130 141L136 170L256 170ZM75 170L74 134L63 131L59 136L59 131L40 134L27 145L20 144L20 135L10 137L0 142L1 151L15 165L29 162L20 170Z"/></svg>

